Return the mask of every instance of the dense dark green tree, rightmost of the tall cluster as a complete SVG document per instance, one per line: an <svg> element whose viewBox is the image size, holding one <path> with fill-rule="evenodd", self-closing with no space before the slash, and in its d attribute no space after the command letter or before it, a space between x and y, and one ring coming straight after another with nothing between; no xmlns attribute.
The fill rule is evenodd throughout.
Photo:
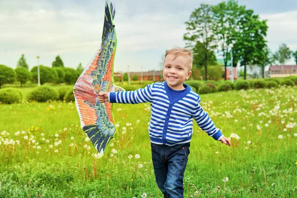
<svg viewBox="0 0 297 198"><path fill-rule="evenodd" d="M244 17L239 20L240 29L234 33L236 43L234 44L235 57L244 66L244 79L247 78L248 64L262 64L261 54L266 45L264 37L268 26L266 20L260 20L253 10L246 10Z"/></svg>

